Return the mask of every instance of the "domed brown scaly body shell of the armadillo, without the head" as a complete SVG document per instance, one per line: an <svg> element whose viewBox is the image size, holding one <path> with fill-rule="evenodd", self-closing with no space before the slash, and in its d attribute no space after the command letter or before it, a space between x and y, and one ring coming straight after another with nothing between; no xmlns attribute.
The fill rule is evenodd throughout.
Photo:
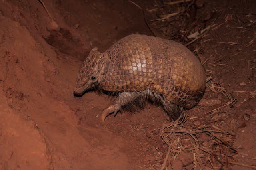
<svg viewBox="0 0 256 170"><path fill-rule="evenodd" d="M178 42L132 34L105 53L110 59L101 83L106 91L149 89L188 109L204 95L204 69L196 56Z"/></svg>

